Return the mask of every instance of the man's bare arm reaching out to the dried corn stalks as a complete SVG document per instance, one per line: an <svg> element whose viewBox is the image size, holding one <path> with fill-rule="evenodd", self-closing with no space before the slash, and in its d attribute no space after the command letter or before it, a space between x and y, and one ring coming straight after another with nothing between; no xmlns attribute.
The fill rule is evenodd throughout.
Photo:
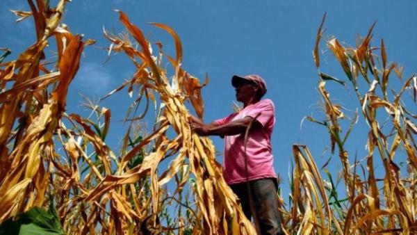
<svg viewBox="0 0 417 235"><path fill-rule="evenodd" d="M215 122L211 124L204 124L193 122L190 120L191 130L197 133L199 136L234 136L240 133L245 133L247 127L254 120L253 117L247 116L243 119L229 122L224 125L218 125ZM256 120L252 124L252 128L259 128L262 125Z"/></svg>

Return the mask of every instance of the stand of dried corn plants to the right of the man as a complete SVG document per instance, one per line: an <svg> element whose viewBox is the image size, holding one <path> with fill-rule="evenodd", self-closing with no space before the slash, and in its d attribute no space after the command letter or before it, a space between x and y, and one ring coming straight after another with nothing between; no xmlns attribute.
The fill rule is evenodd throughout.
<svg viewBox="0 0 417 235"><path fill-rule="evenodd" d="M402 81L402 70L398 65L387 63L383 40L380 47L382 65L377 66L375 63L377 49L370 46L375 24L371 26L357 48L343 47L336 38L327 41L327 47L336 56L352 84L359 101L358 109L361 109L363 118L370 128L366 143L368 150L368 156L365 158L366 166L362 166L356 159L354 164L351 164L352 159L349 158L344 145L357 122L357 113L352 118L349 129L343 133L340 122L345 115L342 107L334 104L330 99L329 92L325 90L325 81L336 81L342 85L345 85L345 81L320 72L318 45L322 36L323 22L324 18L318 30L313 57L318 67L319 90L327 119L323 121L313 117L307 119L322 124L328 129L332 152L335 146L338 146L347 198L345 200L338 198L328 171L330 182L320 177L309 150L305 146L295 145L293 147L295 169L291 194L293 206L291 211L286 213L285 222L291 221L290 231L297 231L298 234L415 234L417 233L417 147L414 135L417 131L412 120L415 120L417 115L405 104L416 106L416 75L412 75L407 81ZM402 88L399 92L393 90L391 92L393 95L389 95L388 88L391 87L389 75L392 71L395 71L402 81ZM359 81L361 78L363 81ZM365 86L367 84L368 88L361 87L362 84ZM365 93L361 94L361 92ZM407 93L408 96L405 97ZM386 111L385 117L377 117L377 110L380 108ZM384 131L380 122L386 122L384 125L391 129ZM388 129L387 127L385 129ZM395 163L395 153L401 150L400 147L407 155L407 172L400 172L398 163ZM382 184L379 184L382 188L378 188L375 177L375 156L379 156L384 165L384 179ZM363 176L359 175L357 168L363 169ZM365 168L368 172L364 170Z"/></svg>

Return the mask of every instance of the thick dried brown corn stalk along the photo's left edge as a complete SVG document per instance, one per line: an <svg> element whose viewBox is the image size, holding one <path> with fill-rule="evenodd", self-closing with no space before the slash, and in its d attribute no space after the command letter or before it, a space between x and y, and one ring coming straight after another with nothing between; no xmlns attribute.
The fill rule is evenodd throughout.
<svg viewBox="0 0 417 235"><path fill-rule="evenodd" d="M51 180L45 167L55 158L53 135L85 45L81 36L58 26L66 1L59 1L56 8L49 8L45 1L37 1L37 6L28 3L37 41L16 60L1 64L0 221L45 202ZM51 37L58 45L55 72L42 64ZM13 85L6 89L8 83ZM48 86L54 86L50 94Z"/></svg>

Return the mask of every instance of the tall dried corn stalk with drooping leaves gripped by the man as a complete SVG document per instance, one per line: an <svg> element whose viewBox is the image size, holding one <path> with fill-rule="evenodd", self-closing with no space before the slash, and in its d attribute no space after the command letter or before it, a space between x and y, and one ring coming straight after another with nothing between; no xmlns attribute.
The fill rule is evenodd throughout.
<svg viewBox="0 0 417 235"><path fill-rule="evenodd" d="M197 209L199 210L197 222L202 221L197 233L206 234L253 234L254 227L247 220L243 211L238 206L236 195L227 186L222 178L220 164L215 161L215 148L208 138L199 138L190 132L188 125L188 109L185 102L188 100L195 108L199 117L202 117L203 106L198 79L190 76L181 68L182 48L181 42L176 33L163 24L154 24L170 33L177 49L176 58L167 56L174 67L174 75L168 79L167 72L161 66L160 51L159 58L152 55L150 43L145 40L140 29L129 22L124 13L120 12L120 21L136 40L141 50L136 49L129 37L110 35L105 32L106 38L111 40L113 51L124 51L136 65L136 72L131 81L124 83L138 85L142 95L149 99L158 95L161 101L161 108L156 120L156 131L151 133L142 145L155 140L155 151L148 154L143 162L136 168L126 168L131 157L140 149L131 149L122 157L115 175L104 177L101 184L88 194L86 200L99 200L109 191L133 184L149 175L151 179L150 191L152 192L152 211L160 210L161 186L167 184L184 165L189 165L187 171L178 187L182 187L190 175L195 177L194 195ZM159 44L161 47L161 44ZM117 90L120 90L118 88ZM169 138L167 131L172 128L177 135ZM158 164L167 156L176 155L170 167L159 177L156 174ZM188 163L186 163L188 159ZM183 173L184 174L184 173ZM126 189L127 190L127 189Z"/></svg>

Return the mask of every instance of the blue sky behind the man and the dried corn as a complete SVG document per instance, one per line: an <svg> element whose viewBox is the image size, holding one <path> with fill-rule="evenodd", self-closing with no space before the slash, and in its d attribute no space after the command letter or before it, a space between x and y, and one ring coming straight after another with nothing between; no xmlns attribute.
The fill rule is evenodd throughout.
<svg viewBox="0 0 417 235"><path fill-rule="evenodd" d="M56 1L51 1L52 3ZM16 24L16 17L8 11L28 10L26 1L0 2L0 47L13 50L15 58L35 40L33 21ZM63 22L72 33L82 33L97 43L85 49L79 73L70 86L69 113L84 113L79 106L83 93L99 98L121 84L133 74L134 68L124 55L116 55L107 63L108 41L102 29L120 32L118 14L123 10L131 22L145 32L152 42L161 40L164 49L173 54L174 44L167 33L146 24L159 22L171 26L183 43L183 67L199 78L208 73L210 82L203 90L204 120L211 122L231 113L234 89L230 79L234 74L260 74L268 83L266 98L275 102L275 130L272 147L275 170L284 182L281 186L284 199L288 199L288 165L292 145L308 145L319 167L329 158L327 130L310 122L300 123L305 115L322 117L318 110L318 76L311 51L322 14L327 11L325 38L336 36L346 44L356 44L357 37L366 35L373 22L377 22L372 44L379 45L384 38L389 60L404 65L404 78L417 72L417 2L416 1L133 1L133 0L73 0L67 4ZM340 65L321 44L322 72L340 79ZM48 50L54 50L50 47ZM393 76L394 77L394 76ZM336 83L327 89L332 99L354 110L354 95ZM351 89L350 89L351 90ZM352 90L351 90L352 92ZM121 120L129 105L125 91L106 99L101 106L111 108L112 124L108 144L117 152L122 138ZM413 108L410 109L413 111ZM414 108L414 111L416 109ZM347 115L353 116L347 111ZM349 121L346 122L346 126ZM366 124L359 117L352 138L347 141L351 162L366 156ZM222 140L213 138L222 150ZM324 152L324 153L323 153ZM400 154L401 156L401 154ZM399 156L399 158L400 158ZM219 161L222 161L219 156ZM398 161L401 161L400 159ZM331 172L341 169L337 154L329 164ZM377 164L378 165L378 164ZM378 165L377 168L382 168Z"/></svg>

